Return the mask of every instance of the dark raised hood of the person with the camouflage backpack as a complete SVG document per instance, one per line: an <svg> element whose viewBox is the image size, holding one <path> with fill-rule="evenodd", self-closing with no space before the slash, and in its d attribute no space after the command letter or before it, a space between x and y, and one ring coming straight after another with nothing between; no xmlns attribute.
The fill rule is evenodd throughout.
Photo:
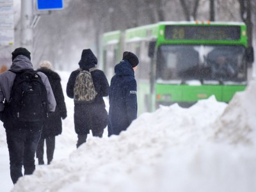
<svg viewBox="0 0 256 192"><path fill-rule="evenodd" d="M91 49L84 49L81 55L81 60L79 61L79 66L82 69L89 69L97 65L98 60L93 54Z"/></svg>

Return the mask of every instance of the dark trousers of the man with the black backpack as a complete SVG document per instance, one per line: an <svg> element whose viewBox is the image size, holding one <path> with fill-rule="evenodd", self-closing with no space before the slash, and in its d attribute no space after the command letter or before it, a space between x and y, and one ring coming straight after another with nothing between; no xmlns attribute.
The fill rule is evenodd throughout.
<svg viewBox="0 0 256 192"><path fill-rule="evenodd" d="M38 127L37 127L38 128ZM38 129L34 129L38 130ZM10 156L10 174L13 184L24 175L30 175L35 170L35 152L40 140L41 130L6 129L6 140Z"/></svg>

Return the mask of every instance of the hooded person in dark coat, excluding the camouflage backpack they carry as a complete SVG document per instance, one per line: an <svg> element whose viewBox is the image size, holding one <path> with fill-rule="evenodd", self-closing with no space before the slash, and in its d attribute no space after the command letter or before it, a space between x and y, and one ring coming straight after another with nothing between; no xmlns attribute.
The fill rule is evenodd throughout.
<svg viewBox="0 0 256 192"><path fill-rule="evenodd" d="M81 60L79 61L79 69L74 70L68 79L67 95L74 98L74 85L76 77L81 70L92 70L92 79L95 86L97 95L90 103L75 103L74 107L74 124L77 134L77 148L86 142L87 134L92 130L93 136L102 137L104 128L108 124L108 112L106 111L105 102L103 97L109 94L109 83L102 72L96 69L97 58L90 49L84 49L82 52Z"/></svg>

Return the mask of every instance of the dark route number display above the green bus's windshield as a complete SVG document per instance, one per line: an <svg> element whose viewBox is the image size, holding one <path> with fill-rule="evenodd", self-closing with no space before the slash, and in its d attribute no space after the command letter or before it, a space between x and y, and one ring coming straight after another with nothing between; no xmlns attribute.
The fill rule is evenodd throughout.
<svg viewBox="0 0 256 192"><path fill-rule="evenodd" d="M169 40L239 40L239 26L166 26Z"/></svg>

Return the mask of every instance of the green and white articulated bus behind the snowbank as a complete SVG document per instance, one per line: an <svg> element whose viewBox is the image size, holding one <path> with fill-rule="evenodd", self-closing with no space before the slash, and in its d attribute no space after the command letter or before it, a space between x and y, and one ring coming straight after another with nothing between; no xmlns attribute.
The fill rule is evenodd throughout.
<svg viewBox="0 0 256 192"><path fill-rule="evenodd" d="M177 103L188 108L215 95L229 102L247 84L253 61L243 22L158 22L102 37L102 70L114 75L124 51L134 52L138 111Z"/></svg>

